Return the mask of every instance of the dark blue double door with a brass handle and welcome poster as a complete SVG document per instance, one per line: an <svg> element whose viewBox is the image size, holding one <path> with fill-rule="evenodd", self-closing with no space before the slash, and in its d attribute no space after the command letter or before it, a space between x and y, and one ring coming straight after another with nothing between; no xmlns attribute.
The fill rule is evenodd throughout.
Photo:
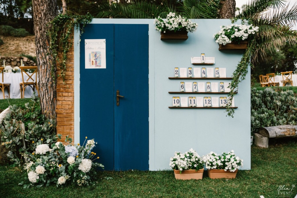
<svg viewBox="0 0 297 198"><path fill-rule="evenodd" d="M149 169L148 31L87 24L81 36L80 144L94 138L105 170ZM106 69L85 69L85 39L106 39Z"/></svg>

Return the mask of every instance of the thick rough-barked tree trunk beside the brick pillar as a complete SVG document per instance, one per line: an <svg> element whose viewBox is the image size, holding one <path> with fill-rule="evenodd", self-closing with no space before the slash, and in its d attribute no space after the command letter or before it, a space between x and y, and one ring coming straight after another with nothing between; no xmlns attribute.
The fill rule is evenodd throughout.
<svg viewBox="0 0 297 198"><path fill-rule="evenodd" d="M47 23L58 15L56 0L33 0L34 34L38 66L40 106L47 118L56 118L56 82L51 77L52 56L46 35ZM54 74L56 75L56 67ZM56 79L56 78L55 78Z"/></svg>

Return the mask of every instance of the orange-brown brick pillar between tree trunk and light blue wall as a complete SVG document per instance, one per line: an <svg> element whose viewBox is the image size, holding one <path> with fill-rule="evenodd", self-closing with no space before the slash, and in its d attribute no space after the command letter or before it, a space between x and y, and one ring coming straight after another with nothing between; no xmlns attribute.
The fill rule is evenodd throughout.
<svg viewBox="0 0 297 198"><path fill-rule="evenodd" d="M61 60L61 54L59 54ZM60 74L57 63L57 75ZM57 78L57 134L62 134L62 141L69 135L74 142L74 47L67 53L65 81L62 77Z"/></svg>

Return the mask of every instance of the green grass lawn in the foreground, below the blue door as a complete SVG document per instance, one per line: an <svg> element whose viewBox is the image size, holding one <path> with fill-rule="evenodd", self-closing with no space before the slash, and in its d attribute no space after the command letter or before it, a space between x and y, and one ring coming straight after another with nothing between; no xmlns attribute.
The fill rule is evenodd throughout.
<svg viewBox="0 0 297 198"><path fill-rule="evenodd" d="M233 180L212 180L206 171L202 180L185 181L176 180L173 171L104 171L95 186L23 189L18 183L25 173L0 166L0 197L295 197L297 141L271 142L266 149L252 146L252 170L238 171ZM278 191L283 185L296 187Z"/></svg>

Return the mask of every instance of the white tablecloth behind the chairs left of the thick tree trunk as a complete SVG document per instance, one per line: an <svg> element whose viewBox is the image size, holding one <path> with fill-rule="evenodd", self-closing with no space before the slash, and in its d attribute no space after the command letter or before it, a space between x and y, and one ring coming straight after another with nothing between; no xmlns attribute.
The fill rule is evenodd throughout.
<svg viewBox="0 0 297 198"><path fill-rule="evenodd" d="M33 75L33 79L35 79L35 74ZM28 76L24 74L25 80L28 79ZM0 80L2 82L2 74L0 75ZM7 73L4 72L4 83L10 83L10 98L21 98L20 96L20 83L23 82L22 80L22 73ZM35 89L36 92L36 89ZM5 96L8 96L7 88L5 88ZM31 98L33 94L33 90L31 87L27 86L25 89L25 98ZM36 92L37 94L37 92ZM3 93L0 90L0 99L3 99Z"/></svg>

